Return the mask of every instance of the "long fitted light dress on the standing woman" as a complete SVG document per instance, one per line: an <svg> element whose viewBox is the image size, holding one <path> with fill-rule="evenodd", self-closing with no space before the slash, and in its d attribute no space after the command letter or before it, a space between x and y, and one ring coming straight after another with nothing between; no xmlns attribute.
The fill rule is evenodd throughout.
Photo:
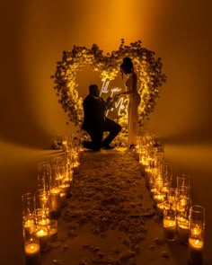
<svg viewBox="0 0 212 265"><path fill-rule="evenodd" d="M137 74L132 72L128 75L126 81L128 94L128 146L137 144L138 131L138 106L141 102L141 97L137 92Z"/></svg>

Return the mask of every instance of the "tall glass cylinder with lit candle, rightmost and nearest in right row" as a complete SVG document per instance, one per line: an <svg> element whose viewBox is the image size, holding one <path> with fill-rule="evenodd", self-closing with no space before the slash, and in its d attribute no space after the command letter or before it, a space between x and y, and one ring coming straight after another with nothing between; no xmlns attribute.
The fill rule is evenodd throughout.
<svg viewBox="0 0 212 265"><path fill-rule="evenodd" d="M190 235L188 261L192 265L202 264L205 235L205 208L194 205L190 208Z"/></svg>

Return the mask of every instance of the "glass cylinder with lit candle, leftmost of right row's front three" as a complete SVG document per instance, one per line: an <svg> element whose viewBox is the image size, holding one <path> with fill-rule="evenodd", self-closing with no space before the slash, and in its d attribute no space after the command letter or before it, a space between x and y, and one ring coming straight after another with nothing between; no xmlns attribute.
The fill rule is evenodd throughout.
<svg viewBox="0 0 212 265"><path fill-rule="evenodd" d="M163 237L167 241L174 241L176 236L176 211L169 201L163 204Z"/></svg>

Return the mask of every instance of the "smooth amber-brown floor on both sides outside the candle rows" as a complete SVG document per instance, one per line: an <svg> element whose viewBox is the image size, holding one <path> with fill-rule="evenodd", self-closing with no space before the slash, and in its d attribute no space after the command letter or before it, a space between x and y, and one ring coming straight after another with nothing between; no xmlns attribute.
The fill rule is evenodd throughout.
<svg viewBox="0 0 212 265"><path fill-rule="evenodd" d="M37 163L49 155L56 155L57 151L31 149L1 143L1 152L1 263L4 261L4 265L11 265L17 264L18 261L18 264L22 265L24 264L22 255L22 193L35 189L37 185ZM212 264L212 226L210 225L212 223L212 205L210 203L212 146L166 144L165 158L172 162L175 175L190 174L192 201L206 208L204 265ZM146 225L153 227L151 222L153 221L149 220ZM151 232L148 235L150 241L155 237L155 232L157 234L162 233L160 225L154 225L154 227L154 229L150 229ZM86 232L84 231L84 233ZM183 265L183 255L179 255L179 253L184 252L185 254L184 249L181 249L181 246L176 247L176 244L172 243L168 244L167 247L172 252L172 261L165 261L166 263L163 264ZM150 264L160 264L155 262L153 258Z"/></svg>

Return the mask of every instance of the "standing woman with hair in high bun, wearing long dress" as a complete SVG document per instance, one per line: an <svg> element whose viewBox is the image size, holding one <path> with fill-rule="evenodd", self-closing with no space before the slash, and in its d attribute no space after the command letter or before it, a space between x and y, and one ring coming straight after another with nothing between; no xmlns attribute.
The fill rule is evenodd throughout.
<svg viewBox="0 0 212 265"><path fill-rule="evenodd" d="M130 57L124 57L123 63L120 66L120 72L127 75L126 88L127 91L118 95L128 94L128 148L133 149L137 144L138 131L138 106L141 102L141 97L137 92L137 74L134 72L133 63Z"/></svg>

